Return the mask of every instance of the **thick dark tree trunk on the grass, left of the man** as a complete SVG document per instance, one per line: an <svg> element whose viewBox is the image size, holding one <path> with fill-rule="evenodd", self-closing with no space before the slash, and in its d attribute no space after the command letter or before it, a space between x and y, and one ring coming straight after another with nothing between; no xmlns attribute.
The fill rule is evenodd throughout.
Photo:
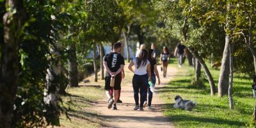
<svg viewBox="0 0 256 128"><path fill-rule="evenodd" d="M78 87L76 42L72 42L68 56L68 86Z"/></svg>

